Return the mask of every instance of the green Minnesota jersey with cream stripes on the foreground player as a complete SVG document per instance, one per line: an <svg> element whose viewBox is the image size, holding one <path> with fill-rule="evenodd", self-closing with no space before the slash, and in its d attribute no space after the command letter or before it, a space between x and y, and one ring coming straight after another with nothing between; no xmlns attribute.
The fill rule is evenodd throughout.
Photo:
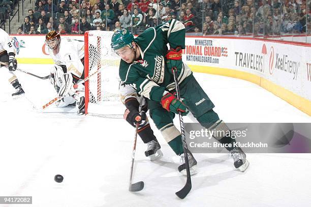
<svg viewBox="0 0 311 207"><path fill-rule="evenodd" d="M166 66L167 44L170 48L180 46L184 49L184 39L184 25L175 19L146 29L134 40L140 47L141 60L132 63L120 61L121 81L133 86L138 94L161 101L164 91L175 88L171 69ZM181 83L191 73L190 68L183 64L178 82Z"/></svg>

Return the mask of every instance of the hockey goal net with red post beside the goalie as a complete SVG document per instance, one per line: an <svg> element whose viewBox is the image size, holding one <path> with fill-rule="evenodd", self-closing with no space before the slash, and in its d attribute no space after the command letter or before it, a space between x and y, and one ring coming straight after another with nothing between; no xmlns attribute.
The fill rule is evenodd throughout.
<svg viewBox="0 0 311 207"><path fill-rule="evenodd" d="M119 95L120 58L110 47L112 31L84 34L85 114L119 118L124 108Z"/></svg>

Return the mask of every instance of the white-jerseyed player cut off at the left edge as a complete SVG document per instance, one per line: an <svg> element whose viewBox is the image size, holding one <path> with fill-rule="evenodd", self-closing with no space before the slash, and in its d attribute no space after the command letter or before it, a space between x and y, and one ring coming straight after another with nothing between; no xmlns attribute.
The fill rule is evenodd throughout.
<svg viewBox="0 0 311 207"><path fill-rule="evenodd" d="M17 69L14 46L10 40L9 34L2 28L0 28L0 61L3 62L3 64L0 63L0 68L8 67L9 73L12 75L9 82L16 89L16 92L13 93L12 96L23 94L24 90L13 73L13 71Z"/></svg>

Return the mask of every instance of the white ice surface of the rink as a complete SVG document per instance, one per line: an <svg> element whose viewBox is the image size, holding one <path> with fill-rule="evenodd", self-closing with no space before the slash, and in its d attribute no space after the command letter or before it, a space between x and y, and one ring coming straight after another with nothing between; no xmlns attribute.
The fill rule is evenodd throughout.
<svg viewBox="0 0 311 207"><path fill-rule="evenodd" d="M46 76L49 65L19 64ZM33 196L22 206L308 206L311 203L310 154L247 154L250 167L234 169L227 154L195 154L199 174L183 200L176 197L185 177L178 157L158 130L163 159L150 162L138 139L134 181L128 191L134 128L123 119L77 116L74 109L38 113L56 94L49 80L16 72L26 92L12 99L6 69L0 70L0 195ZM227 122L310 122L310 117L284 100L246 81L195 74ZM30 103L30 101L32 103ZM121 112L122 113L122 112ZM185 121L191 121L189 118ZM178 123L178 120L176 120ZM152 125L154 128L154 126ZM54 182L56 174L63 183ZM15 206L1 205L0 206Z"/></svg>

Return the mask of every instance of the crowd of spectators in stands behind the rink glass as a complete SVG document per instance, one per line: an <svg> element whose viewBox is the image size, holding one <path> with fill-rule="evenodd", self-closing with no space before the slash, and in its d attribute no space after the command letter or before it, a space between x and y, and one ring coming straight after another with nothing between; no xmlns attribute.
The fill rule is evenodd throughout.
<svg viewBox="0 0 311 207"><path fill-rule="evenodd" d="M37 0L35 6L19 34L116 28L138 34L171 18L201 36L311 33L311 0Z"/></svg>

